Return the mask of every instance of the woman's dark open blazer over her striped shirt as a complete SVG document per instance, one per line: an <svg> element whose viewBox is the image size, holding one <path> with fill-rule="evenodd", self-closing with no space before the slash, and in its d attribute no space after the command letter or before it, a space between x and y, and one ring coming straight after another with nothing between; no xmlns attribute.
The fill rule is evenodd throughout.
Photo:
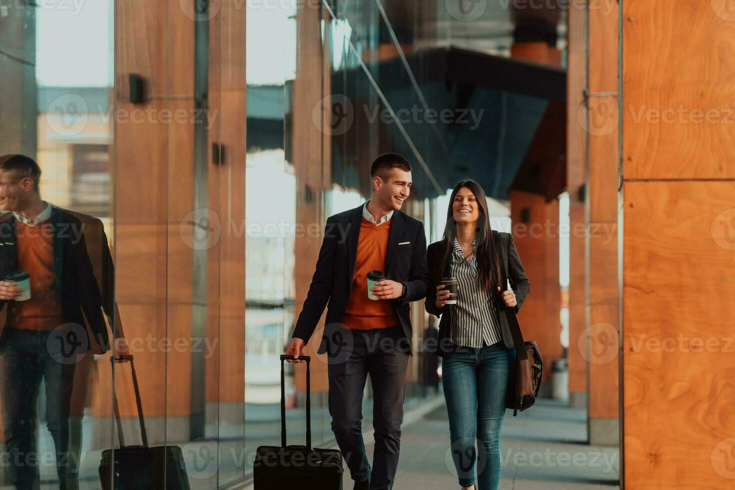
<svg viewBox="0 0 735 490"><path fill-rule="evenodd" d="M513 339L510 334L508 327L508 320L506 314L516 314L520 310L520 306L523 305L523 301L526 300L528 292L531 291L531 283L526 277L526 271L523 270L523 265L520 263L520 257L518 257L518 251L515 249L513 244L513 235L509 233L503 233L500 231L492 230L492 237L495 242L498 243L498 252L501 253L501 264L503 264L503 270L501 274L501 291L495 289L493 297L498 303L498 311L500 312L501 319L501 333L503 334L503 342L509 349L514 348ZM449 342L448 328L449 328L449 315L442 314L451 308L451 305L445 305L442 309L437 309L437 284L441 280L442 276L448 275L448 270L440 273L437 270L440 267L441 258L441 245L442 242L434 242L429 245L427 256L429 259L429 281L431 281L431 287L429 287L429 294L426 295L426 311L429 314L433 314L441 318L439 323L439 338L437 339L437 355L444 357L444 355L450 352L453 348L452 342ZM507 273L507 276L506 276ZM510 307L505 306L505 303L501 300L502 293L507 288L508 281L510 279L511 287L515 293L516 306ZM459 292L461 295L462 292Z"/></svg>

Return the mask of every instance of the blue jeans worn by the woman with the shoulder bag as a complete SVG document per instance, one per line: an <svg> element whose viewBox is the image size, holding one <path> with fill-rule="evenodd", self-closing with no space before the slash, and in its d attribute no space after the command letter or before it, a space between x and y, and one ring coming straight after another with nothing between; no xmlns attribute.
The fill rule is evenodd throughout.
<svg viewBox="0 0 735 490"><path fill-rule="evenodd" d="M461 486L477 483L477 490L497 490L500 484L501 424L511 359L512 351L498 342L462 347L442 362L451 453Z"/></svg>

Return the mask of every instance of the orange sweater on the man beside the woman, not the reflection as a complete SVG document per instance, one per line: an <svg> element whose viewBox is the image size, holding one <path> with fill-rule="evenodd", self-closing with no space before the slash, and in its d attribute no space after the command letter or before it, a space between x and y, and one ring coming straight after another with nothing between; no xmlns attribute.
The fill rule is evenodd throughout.
<svg viewBox="0 0 735 490"><path fill-rule="evenodd" d="M360 235L355 258L355 275L352 278L350 300L345 308L342 322L353 330L372 330L398 325L398 317L392 308L392 300L371 300L368 298L368 279L370 270L385 269L385 255L388 251L390 220L376 226L362 218Z"/></svg>

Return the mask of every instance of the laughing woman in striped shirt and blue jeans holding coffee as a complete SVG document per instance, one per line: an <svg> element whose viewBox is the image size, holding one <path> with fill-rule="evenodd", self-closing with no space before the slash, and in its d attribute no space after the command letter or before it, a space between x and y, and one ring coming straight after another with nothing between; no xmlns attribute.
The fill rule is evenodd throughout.
<svg viewBox="0 0 735 490"><path fill-rule="evenodd" d="M454 187L444 237L429 245L428 259L433 287L426 311L441 317L438 354L459 484L464 490L497 490L514 356L506 309L518 311L531 288L512 235L490 229L487 199L475 181ZM456 304L447 304L449 291L439 284L447 277L458 283Z"/></svg>

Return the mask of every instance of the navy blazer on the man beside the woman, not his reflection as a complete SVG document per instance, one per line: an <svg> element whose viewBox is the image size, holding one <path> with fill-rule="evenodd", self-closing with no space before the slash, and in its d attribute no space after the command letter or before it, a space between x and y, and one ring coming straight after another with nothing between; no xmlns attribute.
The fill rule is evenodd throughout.
<svg viewBox="0 0 735 490"><path fill-rule="evenodd" d="M345 314L355 273L357 241L362 222L362 205L330 216L326 220L316 270L298 315L293 336L309 342L324 307L327 307L325 331L339 326ZM426 235L423 223L401 211L390 218L390 236L384 273L388 279L406 285L404 298L390 301L406 339L412 339L409 302L426 297L429 290L429 266L426 262ZM329 339L322 336L318 353L327 351Z"/></svg>

